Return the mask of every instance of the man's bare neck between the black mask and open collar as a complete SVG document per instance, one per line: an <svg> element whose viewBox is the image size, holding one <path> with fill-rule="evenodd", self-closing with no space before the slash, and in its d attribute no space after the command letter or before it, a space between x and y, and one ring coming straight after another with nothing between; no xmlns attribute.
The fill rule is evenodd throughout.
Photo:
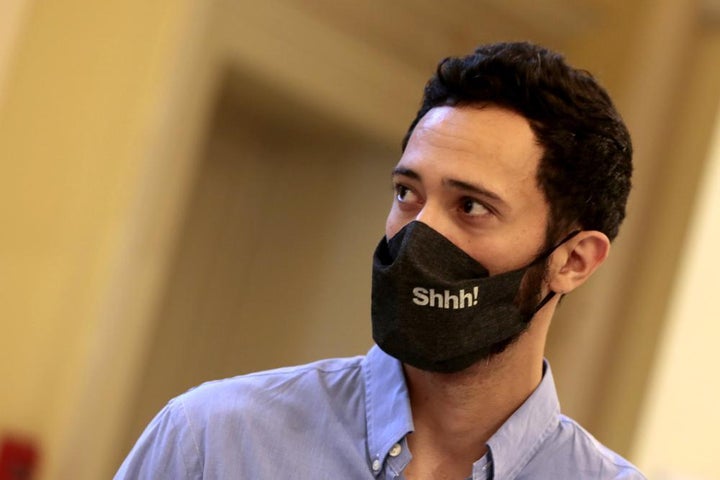
<svg viewBox="0 0 720 480"><path fill-rule="evenodd" d="M518 343L528 340L521 337ZM405 366L415 425L408 437L413 460L407 478L471 475L472 464L487 450L487 441L542 378L542 352L518 343L459 373Z"/></svg>

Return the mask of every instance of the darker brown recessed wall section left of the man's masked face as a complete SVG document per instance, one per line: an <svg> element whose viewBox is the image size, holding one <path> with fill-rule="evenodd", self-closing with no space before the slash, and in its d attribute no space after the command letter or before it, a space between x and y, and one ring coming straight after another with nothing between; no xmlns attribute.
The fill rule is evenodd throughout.
<svg viewBox="0 0 720 480"><path fill-rule="evenodd" d="M371 345L369 261L397 149L267 87L233 78L226 88L235 92L220 97L201 152L118 462L194 385ZM278 97L281 112L263 108Z"/></svg>

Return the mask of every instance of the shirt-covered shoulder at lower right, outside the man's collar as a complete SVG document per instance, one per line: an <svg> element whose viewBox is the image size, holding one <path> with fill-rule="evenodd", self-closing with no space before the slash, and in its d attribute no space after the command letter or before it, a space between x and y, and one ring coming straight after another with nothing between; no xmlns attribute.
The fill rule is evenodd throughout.
<svg viewBox="0 0 720 480"><path fill-rule="evenodd" d="M572 418L560 415L558 428L543 442L536 460L550 460L555 472L562 475L585 472L586 477L618 480L646 480L646 477L628 460L612 451ZM565 471L564 469L567 469Z"/></svg>

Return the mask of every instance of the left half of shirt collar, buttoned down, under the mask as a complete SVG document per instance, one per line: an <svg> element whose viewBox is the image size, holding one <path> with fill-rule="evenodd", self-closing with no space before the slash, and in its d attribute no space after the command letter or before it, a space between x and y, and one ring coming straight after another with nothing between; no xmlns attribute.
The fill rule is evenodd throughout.
<svg viewBox="0 0 720 480"><path fill-rule="evenodd" d="M373 346L364 360L365 410L370 464L385 462L390 449L413 431L402 364Z"/></svg>

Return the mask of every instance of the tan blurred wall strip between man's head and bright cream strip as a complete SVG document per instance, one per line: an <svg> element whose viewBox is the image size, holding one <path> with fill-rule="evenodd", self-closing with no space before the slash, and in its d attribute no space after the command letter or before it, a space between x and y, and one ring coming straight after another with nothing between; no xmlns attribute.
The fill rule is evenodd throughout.
<svg viewBox="0 0 720 480"><path fill-rule="evenodd" d="M566 359L561 368L575 370L563 375L571 381L561 393L573 408L577 395L582 398L576 416L622 452L632 443L646 372L677 286L675 271L712 136L713 102L720 96L717 10L685 0L650 5L627 12L628 36L607 40L622 47L592 50L611 54L602 57L605 69L618 67L612 77L633 135L633 192L609 262L591 279L592 290L568 299L572 303L558 319L570 326L555 325L551 347L557 348L550 349Z"/></svg>

